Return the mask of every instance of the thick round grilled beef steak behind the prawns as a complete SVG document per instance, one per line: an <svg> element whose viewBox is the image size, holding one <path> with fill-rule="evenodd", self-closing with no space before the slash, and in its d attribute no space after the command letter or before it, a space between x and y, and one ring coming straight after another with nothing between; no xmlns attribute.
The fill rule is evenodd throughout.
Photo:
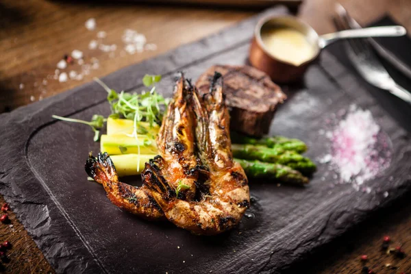
<svg viewBox="0 0 411 274"><path fill-rule="evenodd" d="M268 75L251 66L215 65L197 80L201 94L209 92L214 72L223 75L231 129L257 137L269 133L277 105L286 99L281 88Z"/></svg>

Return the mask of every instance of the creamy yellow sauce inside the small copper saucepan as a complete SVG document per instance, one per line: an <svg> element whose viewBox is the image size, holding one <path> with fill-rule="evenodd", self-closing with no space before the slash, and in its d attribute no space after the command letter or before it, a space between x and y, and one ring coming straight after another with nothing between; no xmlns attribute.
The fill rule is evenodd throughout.
<svg viewBox="0 0 411 274"><path fill-rule="evenodd" d="M261 38L271 55L295 66L310 60L316 53L301 32L289 27L262 29Z"/></svg>

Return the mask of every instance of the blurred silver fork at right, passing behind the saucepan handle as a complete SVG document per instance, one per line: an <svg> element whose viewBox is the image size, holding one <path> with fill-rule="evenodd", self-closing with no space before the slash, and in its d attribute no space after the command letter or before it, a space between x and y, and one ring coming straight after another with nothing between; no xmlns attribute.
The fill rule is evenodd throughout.
<svg viewBox="0 0 411 274"><path fill-rule="evenodd" d="M338 30L349 28L349 18L344 8L337 7L338 15L341 20L334 20ZM411 104L411 93L405 88L395 83L394 79L388 74L377 56L373 52L371 45L366 39L350 39L345 41L345 50L353 66L358 73L369 82L369 84L387 90L391 94L403 99Z"/></svg>

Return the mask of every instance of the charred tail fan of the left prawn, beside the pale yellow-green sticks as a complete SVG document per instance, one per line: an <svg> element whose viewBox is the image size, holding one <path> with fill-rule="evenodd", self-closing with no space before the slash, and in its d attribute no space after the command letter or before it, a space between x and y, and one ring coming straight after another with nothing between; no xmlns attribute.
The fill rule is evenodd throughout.
<svg viewBox="0 0 411 274"><path fill-rule="evenodd" d="M107 152L99 153L97 158L90 153L84 169L88 176L100 184L119 181L116 167Z"/></svg>

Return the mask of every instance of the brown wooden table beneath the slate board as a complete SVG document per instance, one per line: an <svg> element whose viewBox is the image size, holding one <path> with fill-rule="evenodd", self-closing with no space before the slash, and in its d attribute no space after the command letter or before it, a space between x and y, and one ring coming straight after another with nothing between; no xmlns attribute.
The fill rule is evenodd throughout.
<svg viewBox="0 0 411 274"><path fill-rule="evenodd" d="M114 1L113 1L114 2ZM340 0L360 23L369 23L384 12L411 31L411 2L408 0ZM331 15L334 1L312 0L301 5L298 15L320 34L332 32ZM164 53L179 45L218 32L220 29L256 14L258 10L233 8L201 8L199 6L140 5L136 3L97 4L87 1L2 1L0 3L0 112L13 110L32 101L53 96L69 88L102 77L129 64ZM95 18L97 28L89 31L84 26L88 18ZM130 55L122 41L126 28L145 34L155 51ZM89 49L90 40L104 31L104 45L116 45L116 51ZM74 49L84 53L84 61L98 60L98 67L90 69L82 80L53 79L56 64ZM94 58L94 59L92 59ZM81 71L79 64L66 71ZM147 71L155 73L155 71ZM0 203L3 203L0 197ZM367 265L377 273L411 273L411 259L396 260L381 251L382 236L389 234L411 254L410 196L393 207L336 240L303 262L299 273L360 273L360 255L369 256ZM11 273L52 273L32 238L10 212L11 225L0 225L0 240L10 240L14 247L8 252L12 261L7 265ZM332 254L330 256L330 254ZM388 269L384 264L400 266ZM294 271L294 270L293 270ZM295 273L294 272L291 273Z"/></svg>

